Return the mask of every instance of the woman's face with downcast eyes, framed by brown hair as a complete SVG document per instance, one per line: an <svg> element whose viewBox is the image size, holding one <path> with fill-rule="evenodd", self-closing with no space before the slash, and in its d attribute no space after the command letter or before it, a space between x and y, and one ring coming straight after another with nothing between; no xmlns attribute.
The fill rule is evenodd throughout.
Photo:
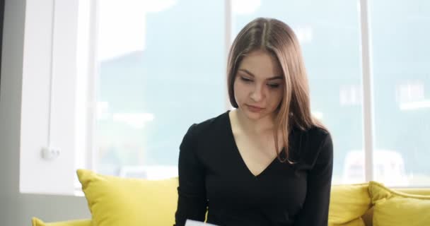
<svg viewBox="0 0 430 226"><path fill-rule="evenodd" d="M273 117L284 97L284 76L276 57L264 50L247 54L238 66L234 97L249 119Z"/></svg>

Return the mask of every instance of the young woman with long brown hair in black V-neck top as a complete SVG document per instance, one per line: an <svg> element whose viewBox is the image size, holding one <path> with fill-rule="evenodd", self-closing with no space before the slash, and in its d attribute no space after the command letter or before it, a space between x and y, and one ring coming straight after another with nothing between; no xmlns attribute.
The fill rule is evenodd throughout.
<svg viewBox="0 0 430 226"><path fill-rule="evenodd" d="M332 138L310 114L293 30L252 20L231 46L227 76L235 109L193 124L180 145L176 225L327 225Z"/></svg>

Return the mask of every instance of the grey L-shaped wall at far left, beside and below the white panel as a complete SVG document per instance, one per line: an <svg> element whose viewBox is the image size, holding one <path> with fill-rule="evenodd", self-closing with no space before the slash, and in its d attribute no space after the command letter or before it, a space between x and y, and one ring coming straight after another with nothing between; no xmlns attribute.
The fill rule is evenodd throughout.
<svg viewBox="0 0 430 226"><path fill-rule="evenodd" d="M19 193L19 143L25 0L6 0L0 87L0 225L90 218L83 197ZM37 110L37 109L34 109Z"/></svg>

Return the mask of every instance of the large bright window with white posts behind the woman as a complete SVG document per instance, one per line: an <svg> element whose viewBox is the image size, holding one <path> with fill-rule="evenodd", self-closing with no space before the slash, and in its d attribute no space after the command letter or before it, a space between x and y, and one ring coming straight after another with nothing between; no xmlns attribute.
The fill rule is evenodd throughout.
<svg viewBox="0 0 430 226"><path fill-rule="evenodd" d="M312 112L332 132L333 183L430 185L427 1L369 1L364 8L366 1L344 0L93 2L88 62L96 110L85 156L96 171L175 176L187 128L230 107L227 47L262 16L288 23L301 43Z"/></svg>

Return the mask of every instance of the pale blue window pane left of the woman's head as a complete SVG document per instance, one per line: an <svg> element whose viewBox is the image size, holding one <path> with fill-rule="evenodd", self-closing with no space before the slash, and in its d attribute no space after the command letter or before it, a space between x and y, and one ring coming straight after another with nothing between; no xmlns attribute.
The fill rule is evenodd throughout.
<svg viewBox="0 0 430 226"><path fill-rule="evenodd" d="M223 1L156 2L100 7L99 172L175 168L188 127L226 109Z"/></svg>

